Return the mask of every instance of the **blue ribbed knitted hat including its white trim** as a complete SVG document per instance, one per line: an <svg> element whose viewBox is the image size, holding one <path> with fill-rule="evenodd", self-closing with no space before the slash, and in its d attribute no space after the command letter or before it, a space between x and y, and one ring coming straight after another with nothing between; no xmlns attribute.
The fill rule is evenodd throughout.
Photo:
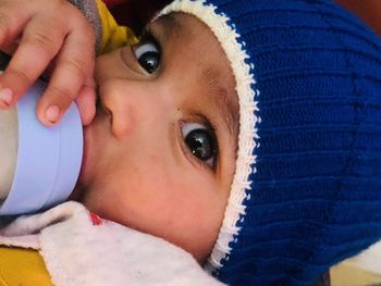
<svg viewBox="0 0 381 286"><path fill-rule="evenodd" d="M310 285L381 238L381 40L329 0L175 0L213 32L239 100L236 173L206 265Z"/></svg>

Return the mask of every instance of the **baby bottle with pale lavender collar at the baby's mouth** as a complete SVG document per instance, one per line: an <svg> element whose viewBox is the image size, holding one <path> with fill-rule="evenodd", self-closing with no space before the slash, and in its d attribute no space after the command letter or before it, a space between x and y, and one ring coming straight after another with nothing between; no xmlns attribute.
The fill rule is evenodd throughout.
<svg viewBox="0 0 381 286"><path fill-rule="evenodd" d="M8 64L0 54L0 70ZM67 199L82 163L83 130L75 103L59 124L42 125L36 104L46 83L37 80L10 110L0 110L0 215L33 213Z"/></svg>

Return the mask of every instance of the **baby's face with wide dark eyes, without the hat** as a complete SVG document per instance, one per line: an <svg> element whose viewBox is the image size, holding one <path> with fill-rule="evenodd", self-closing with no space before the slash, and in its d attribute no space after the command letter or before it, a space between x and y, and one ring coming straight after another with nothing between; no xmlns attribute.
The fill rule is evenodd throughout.
<svg viewBox="0 0 381 286"><path fill-rule="evenodd" d="M235 82L219 42L190 15L165 16L139 45L100 57L96 79L81 200L202 262L223 220L238 129Z"/></svg>

